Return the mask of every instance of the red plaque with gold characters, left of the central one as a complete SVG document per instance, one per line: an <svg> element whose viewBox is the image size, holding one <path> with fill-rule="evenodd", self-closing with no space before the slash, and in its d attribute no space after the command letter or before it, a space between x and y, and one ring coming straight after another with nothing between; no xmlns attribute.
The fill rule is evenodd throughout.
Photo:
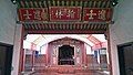
<svg viewBox="0 0 133 75"><path fill-rule="evenodd" d="M47 21L48 20L48 9L41 8L29 8L19 9L20 21Z"/></svg>

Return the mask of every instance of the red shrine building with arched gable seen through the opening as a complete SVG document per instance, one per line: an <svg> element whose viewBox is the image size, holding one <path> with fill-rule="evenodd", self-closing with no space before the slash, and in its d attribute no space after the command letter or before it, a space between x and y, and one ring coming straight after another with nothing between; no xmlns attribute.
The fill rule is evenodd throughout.
<svg viewBox="0 0 133 75"><path fill-rule="evenodd" d="M102 71L108 71L106 46L101 44L103 45L101 47L90 47L88 44L88 42L80 41L78 38L64 36L52 40L41 46L39 54L37 54L37 51L25 49L23 72L31 72L33 69L33 74L43 75L93 75L102 74ZM45 51L45 53L41 54L42 51Z"/></svg>

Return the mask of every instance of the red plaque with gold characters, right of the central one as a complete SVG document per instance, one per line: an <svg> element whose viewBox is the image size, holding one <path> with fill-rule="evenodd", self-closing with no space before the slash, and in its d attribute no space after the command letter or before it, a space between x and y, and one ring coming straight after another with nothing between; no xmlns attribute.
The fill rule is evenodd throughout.
<svg viewBox="0 0 133 75"><path fill-rule="evenodd" d="M112 19L112 9L99 9L99 8L83 9L83 21L105 22L105 21L111 21L111 19Z"/></svg>

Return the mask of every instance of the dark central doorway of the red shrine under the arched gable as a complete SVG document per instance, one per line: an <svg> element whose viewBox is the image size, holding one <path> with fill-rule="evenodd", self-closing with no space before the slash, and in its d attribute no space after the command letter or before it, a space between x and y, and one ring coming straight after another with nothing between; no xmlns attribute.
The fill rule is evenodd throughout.
<svg viewBox="0 0 133 75"><path fill-rule="evenodd" d="M59 65L74 65L74 47L70 45L62 45L59 47Z"/></svg>

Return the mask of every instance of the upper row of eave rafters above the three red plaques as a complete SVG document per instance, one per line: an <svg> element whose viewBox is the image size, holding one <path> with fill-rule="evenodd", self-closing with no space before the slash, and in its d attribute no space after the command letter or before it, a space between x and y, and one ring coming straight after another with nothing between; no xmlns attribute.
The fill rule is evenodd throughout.
<svg viewBox="0 0 133 75"><path fill-rule="evenodd" d="M111 8L111 0L18 0L19 8L82 7Z"/></svg>

